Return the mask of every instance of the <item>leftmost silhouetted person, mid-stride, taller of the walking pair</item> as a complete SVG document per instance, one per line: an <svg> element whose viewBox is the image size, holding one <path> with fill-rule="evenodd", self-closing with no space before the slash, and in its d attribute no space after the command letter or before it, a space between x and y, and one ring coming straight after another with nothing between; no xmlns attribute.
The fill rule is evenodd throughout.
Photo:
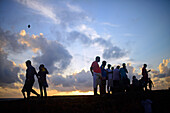
<svg viewBox="0 0 170 113"><path fill-rule="evenodd" d="M34 84L34 75L37 76L37 72L35 70L35 68L31 65L31 61L27 60L26 62L26 66L27 66L27 70L26 70L26 80L25 80L25 84L24 87L22 89L22 93L24 98L26 98L25 96L25 92L27 92L27 98L30 98L30 92L32 92L33 94L37 95L38 97L40 96L35 90L32 89L33 84ZM38 78L38 76L37 76Z"/></svg>

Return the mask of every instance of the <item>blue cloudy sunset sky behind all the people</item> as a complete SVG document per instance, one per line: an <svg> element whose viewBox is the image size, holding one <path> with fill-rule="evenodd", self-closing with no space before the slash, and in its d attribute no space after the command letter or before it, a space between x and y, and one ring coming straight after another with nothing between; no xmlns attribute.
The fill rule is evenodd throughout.
<svg viewBox="0 0 170 113"><path fill-rule="evenodd" d="M154 90L167 89L169 20L169 0L1 0L0 98L22 97L28 59L49 70L49 96L93 94L96 56L126 63L130 80L146 63Z"/></svg>

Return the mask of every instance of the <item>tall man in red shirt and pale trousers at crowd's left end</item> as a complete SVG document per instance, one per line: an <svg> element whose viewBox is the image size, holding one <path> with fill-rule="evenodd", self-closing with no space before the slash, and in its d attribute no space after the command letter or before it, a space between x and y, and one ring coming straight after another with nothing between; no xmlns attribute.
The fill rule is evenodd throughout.
<svg viewBox="0 0 170 113"><path fill-rule="evenodd" d="M101 69L98 62L100 62L99 56L96 57L96 60L92 63L90 67L90 71L93 76L94 95L97 95L97 86L101 85Z"/></svg>

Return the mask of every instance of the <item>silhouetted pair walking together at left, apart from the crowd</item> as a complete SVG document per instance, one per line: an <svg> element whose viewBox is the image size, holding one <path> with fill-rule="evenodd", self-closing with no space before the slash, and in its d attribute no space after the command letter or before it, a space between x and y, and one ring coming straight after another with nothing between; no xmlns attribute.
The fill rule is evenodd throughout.
<svg viewBox="0 0 170 113"><path fill-rule="evenodd" d="M27 92L27 98L30 98L30 93L32 92L33 94L37 95L38 97L43 97L43 90L44 90L44 95L47 97L47 91L46 88L48 87L47 80L46 80L46 74L48 74L48 70L44 67L43 64L39 66L39 72L37 73L35 68L31 65L31 61L27 60L26 62L26 80L24 87L22 89L22 93L24 98L26 99L25 92ZM40 94L39 95L32 87L34 85L35 79L34 75L36 75L39 83L39 88L40 88Z"/></svg>

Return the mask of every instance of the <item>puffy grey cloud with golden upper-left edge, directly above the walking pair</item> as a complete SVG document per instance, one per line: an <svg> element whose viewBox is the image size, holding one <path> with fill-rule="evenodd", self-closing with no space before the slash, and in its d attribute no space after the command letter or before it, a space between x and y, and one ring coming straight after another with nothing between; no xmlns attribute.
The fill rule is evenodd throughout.
<svg viewBox="0 0 170 113"><path fill-rule="evenodd" d="M51 73L63 71L71 62L72 56L63 45L57 41L47 40L42 34L21 37L20 43L26 44L36 53L33 61L37 63L37 66L43 63Z"/></svg>

